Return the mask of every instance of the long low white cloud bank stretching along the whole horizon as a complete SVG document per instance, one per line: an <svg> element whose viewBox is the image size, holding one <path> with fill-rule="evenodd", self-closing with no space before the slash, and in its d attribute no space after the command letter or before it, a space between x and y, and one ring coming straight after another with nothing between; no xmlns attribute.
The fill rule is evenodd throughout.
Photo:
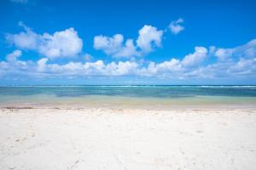
<svg viewBox="0 0 256 170"><path fill-rule="evenodd" d="M9 74L29 75L33 77L160 77L168 79L193 79L193 78L229 78L256 77L256 55L254 55L255 41L228 48L234 49L230 59L212 62L204 61L212 56L219 48L195 47L195 52L185 55L183 58L155 63L136 60L105 63L102 60L95 62L68 62L67 64L56 64L49 62L48 58L34 61L19 60L21 52L14 51L6 56L6 61L0 61L1 77ZM213 53L214 55L215 53Z"/></svg>

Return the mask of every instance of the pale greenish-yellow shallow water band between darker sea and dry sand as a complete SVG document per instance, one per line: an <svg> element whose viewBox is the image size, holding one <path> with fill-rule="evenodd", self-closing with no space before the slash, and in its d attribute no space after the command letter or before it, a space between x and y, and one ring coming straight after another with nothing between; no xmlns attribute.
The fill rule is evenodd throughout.
<svg viewBox="0 0 256 170"><path fill-rule="evenodd" d="M0 98L1 99L1 98ZM124 96L57 97L55 95L7 96L0 100L3 107L32 108L113 108L113 109L222 109L256 108L255 97L196 96L183 98L137 98Z"/></svg>

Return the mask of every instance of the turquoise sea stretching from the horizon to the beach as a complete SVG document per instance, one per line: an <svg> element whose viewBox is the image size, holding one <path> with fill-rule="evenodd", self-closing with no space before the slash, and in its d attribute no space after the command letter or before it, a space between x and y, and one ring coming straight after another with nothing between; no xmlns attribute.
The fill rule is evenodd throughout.
<svg viewBox="0 0 256 170"><path fill-rule="evenodd" d="M0 87L0 103L2 105L256 105L256 86Z"/></svg>

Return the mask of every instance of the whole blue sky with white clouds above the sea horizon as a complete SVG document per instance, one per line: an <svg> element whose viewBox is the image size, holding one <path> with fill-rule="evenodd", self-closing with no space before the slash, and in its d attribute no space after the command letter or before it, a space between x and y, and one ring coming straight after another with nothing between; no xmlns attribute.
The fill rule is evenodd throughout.
<svg viewBox="0 0 256 170"><path fill-rule="evenodd" d="M254 85L255 8L253 0L1 0L0 85Z"/></svg>

